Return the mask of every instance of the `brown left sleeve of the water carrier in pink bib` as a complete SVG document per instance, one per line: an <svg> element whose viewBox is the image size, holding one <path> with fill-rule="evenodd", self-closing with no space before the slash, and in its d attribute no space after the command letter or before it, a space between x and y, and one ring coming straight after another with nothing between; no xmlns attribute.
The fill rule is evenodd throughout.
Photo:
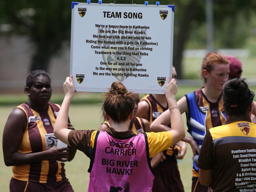
<svg viewBox="0 0 256 192"><path fill-rule="evenodd" d="M77 148L90 158L89 151L93 131L95 130L71 130L68 136L70 146Z"/></svg>

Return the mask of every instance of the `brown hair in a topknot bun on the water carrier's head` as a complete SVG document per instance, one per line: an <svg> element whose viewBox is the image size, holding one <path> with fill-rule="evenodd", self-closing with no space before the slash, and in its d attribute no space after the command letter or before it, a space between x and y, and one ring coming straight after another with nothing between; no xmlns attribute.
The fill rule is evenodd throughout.
<svg viewBox="0 0 256 192"><path fill-rule="evenodd" d="M122 122L128 119L134 110L134 99L121 82L115 81L110 89L104 94L104 111L111 119Z"/></svg>

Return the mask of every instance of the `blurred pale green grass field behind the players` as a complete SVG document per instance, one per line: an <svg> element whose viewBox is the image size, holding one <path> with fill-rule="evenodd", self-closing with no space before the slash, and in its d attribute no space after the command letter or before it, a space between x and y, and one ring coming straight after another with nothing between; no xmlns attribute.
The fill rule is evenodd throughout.
<svg viewBox="0 0 256 192"><path fill-rule="evenodd" d="M249 57L248 59L239 58L243 63L244 78L256 79L256 65L254 61L255 57ZM202 59L185 59L184 60L184 76L187 79L198 79L198 72L200 71L200 64ZM178 86L179 87L179 86ZM177 99L191 92L198 87L179 87L176 95ZM256 87L250 87L256 92ZM141 94L140 97L143 95ZM52 102L61 104L63 100L63 94L53 94ZM7 117L11 110L20 103L26 102L26 94L20 95L0 95L0 143L2 151L2 132L6 123ZM70 120L76 129L98 129L102 122L101 112L101 98L98 93L76 93L72 100L70 107ZM185 115L183 114L184 120ZM184 122L185 123L185 122ZM186 127L186 126L185 126ZM190 146L187 146L187 153L183 160L178 161L182 182L186 192L191 191L191 167L192 167L192 151ZM77 151L73 161L67 162L65 165L66 174L70 183L77 192L87 191L89 174L87 169L89 167L89 158L87 158L82 152ZM11 167L4 165L3 155L0 157L0 188L1 191L9 190L9 180L11 179L12 171Z"/></svg>

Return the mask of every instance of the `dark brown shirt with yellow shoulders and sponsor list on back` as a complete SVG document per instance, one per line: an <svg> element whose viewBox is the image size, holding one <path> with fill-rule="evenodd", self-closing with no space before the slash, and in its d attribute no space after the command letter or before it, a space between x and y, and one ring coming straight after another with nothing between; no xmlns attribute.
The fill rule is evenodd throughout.
<svg viewBox="0 0 256 192"><path fill-rule="evenodd" d="M197 166L213 170L214 192L256 191L256 125L232 116L206 133Z"/></svg>

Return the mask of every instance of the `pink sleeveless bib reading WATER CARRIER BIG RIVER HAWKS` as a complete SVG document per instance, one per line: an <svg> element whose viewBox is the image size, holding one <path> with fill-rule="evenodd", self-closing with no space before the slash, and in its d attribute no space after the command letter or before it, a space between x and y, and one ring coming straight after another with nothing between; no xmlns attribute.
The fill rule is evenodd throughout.
<svg viewBox="0 0 256 192"><path fill-rule="evenodd" d="M145 133L117 138L98 131L93 150L88 192L151 191L154 175Z"/></svg>

